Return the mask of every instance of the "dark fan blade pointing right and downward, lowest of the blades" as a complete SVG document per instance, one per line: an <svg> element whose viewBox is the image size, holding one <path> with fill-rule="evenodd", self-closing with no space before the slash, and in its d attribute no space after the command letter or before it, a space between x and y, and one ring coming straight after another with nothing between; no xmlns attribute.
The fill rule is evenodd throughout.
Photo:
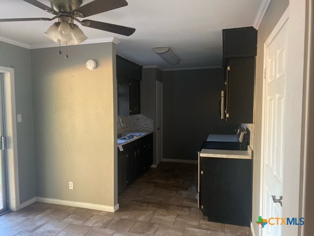
<svg viewBox="0 0 314 236"><path fill-rule="evenodd" d="M126 35L126 36L130 36L132 33L135 32L134 28L130 28L126 26L119 26L119 25L114 25L114 24L99 22L99 21L83 20L81 21L81 24L86 27L90 27L94 29L101 29L101 30L112 32L112 33Z"/></svg>

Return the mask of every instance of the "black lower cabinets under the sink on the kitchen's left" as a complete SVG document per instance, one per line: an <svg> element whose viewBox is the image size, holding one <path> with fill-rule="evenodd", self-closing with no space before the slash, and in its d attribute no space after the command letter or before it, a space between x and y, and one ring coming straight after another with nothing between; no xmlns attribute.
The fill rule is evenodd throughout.
<svg viewBox="0 0 314 236"><path fill-rule="evenodd" d="M136 139L123 149L118 148L118 193L153 164L153 134Z"/></svg>

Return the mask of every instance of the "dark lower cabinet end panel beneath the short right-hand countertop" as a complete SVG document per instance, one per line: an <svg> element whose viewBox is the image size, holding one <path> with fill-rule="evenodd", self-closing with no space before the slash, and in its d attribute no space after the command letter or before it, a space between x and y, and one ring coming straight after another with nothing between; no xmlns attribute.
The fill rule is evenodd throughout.
<svg viewBox="0 0 314 236"><path fill-rule="evenodd" d="M250 226L252 160L202 158L201 199L208 221Z"/></svg>

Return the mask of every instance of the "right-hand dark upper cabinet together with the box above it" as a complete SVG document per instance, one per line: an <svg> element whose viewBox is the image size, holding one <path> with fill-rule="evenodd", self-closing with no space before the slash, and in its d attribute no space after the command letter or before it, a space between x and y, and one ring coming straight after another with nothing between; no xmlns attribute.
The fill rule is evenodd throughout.
<svg viewBox="0 0 314 236"><path fill-rule="evenodd" d="M221 112L231 123L253 123L257 30L223 29L225 97Z"/></svg>

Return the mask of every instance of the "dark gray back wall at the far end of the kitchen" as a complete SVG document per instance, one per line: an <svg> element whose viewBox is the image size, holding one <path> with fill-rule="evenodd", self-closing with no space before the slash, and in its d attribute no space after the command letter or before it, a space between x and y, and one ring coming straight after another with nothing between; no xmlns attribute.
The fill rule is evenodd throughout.
<svg viewBox="0 0 314 236"><path fill-rule="evenodd" d="M209 134L230 134L238 124L220 119L223 69L163 71L163 158L197 160Z"/></svg>

